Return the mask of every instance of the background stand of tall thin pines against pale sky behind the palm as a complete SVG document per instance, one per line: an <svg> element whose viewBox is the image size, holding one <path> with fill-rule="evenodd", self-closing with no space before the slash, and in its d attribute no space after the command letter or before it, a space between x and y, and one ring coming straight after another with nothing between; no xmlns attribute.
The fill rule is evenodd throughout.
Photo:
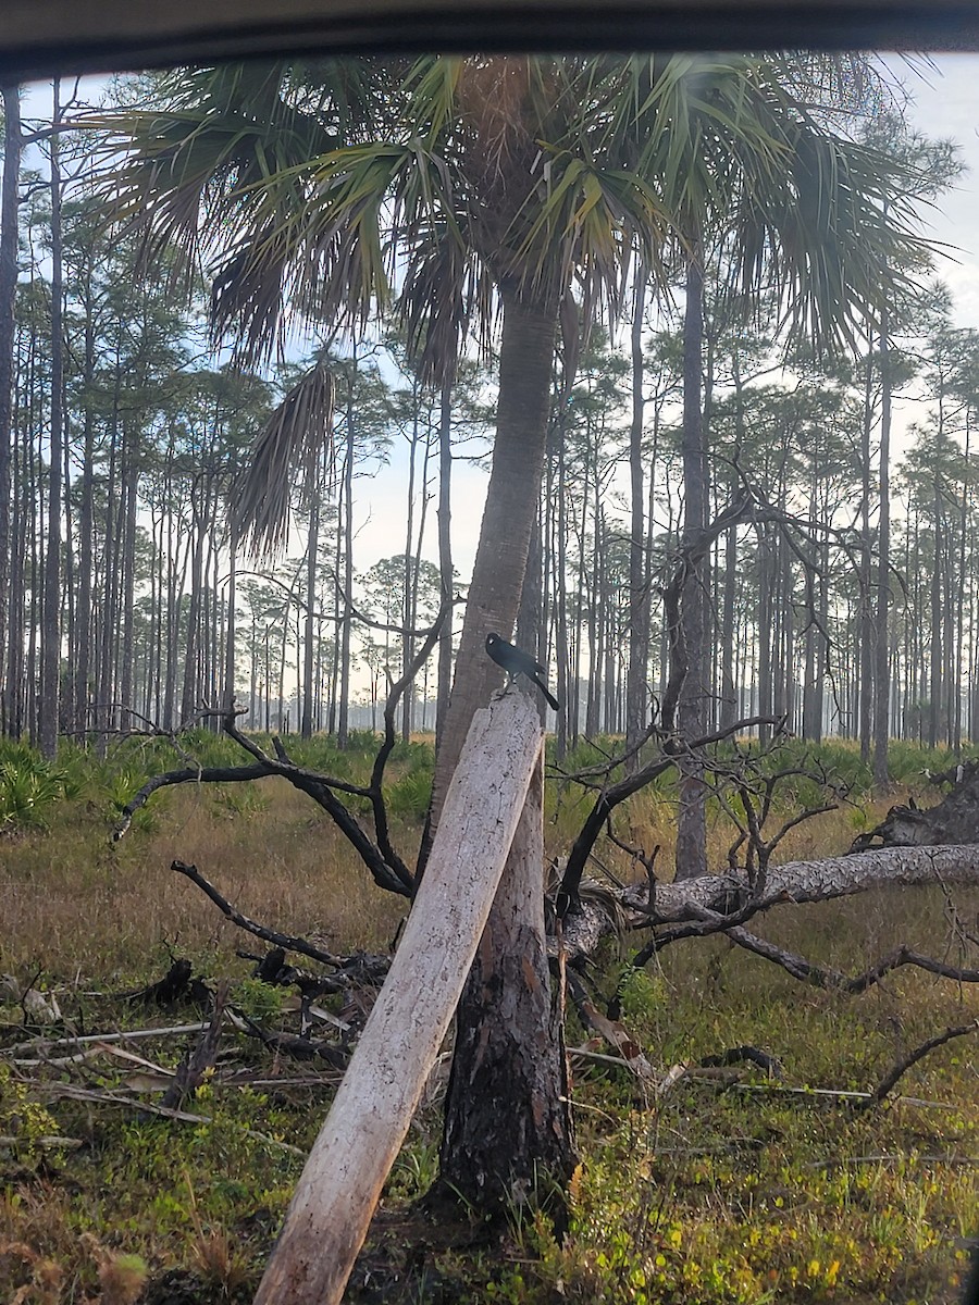
<svg viewBox="0 0 979 1305"><path fill-rule="evenodd" d="M178 103L172 78L114 95L120 114ZM410 316L382 305L359 333L324 318L302 364L215 354L209 286L166 238L179 215L148 258L145 231L106 221L108 110L93 121L59 85L54 104L25 125L17 89L4 93L0 726L52 752L59 735L174 728L234 696L252 728L343 741L355 701L376 723L443 590L465 595L441 526L471 518L450 468L487 457L497 356L426 368ZM893 114L876 130L906 218L954 176L954 151ZM888 303L851 315L846 348L782 329L778 278L751 288L745 315L732 245L707 227L655 278L642 257L628 264L610 328L583 311L561 320L518 626L553 669L559 749L636 736L655 714L694 492L701 531L738 496L748 505L711 538L687 596L709 724L785 716L884 758L890 736L979 737L979 331L952 325L923 244L895 251ZM315 363L335 386L333 438L290 485L285 559L256 559L230 496ZM910 397L898 438L894 405L907 412ZM390 462L403 548L379 560L358 504ZM449 676L444 651L403 701L406 736L435 723Z"/></svg>

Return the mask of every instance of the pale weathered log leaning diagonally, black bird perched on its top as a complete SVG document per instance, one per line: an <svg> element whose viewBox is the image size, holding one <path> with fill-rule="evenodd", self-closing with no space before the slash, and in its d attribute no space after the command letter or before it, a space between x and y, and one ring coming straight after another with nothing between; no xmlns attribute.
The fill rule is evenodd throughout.
<svg viewBox="0 0 979 1305"><path fill-rule="evenodd" d="M401 946L299 1180L256 1305L341 1300L473 964L540 749L539 716L522 693L476 713Z"/></svg>

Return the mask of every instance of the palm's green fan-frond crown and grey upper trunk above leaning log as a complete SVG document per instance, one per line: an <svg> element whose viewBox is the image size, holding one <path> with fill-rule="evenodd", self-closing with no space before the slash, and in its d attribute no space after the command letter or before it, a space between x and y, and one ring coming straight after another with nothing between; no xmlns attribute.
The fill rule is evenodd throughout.
<svg viewBox="0 0 979 1305"><path fill-rule="evenodd" d="M572 288L587 316L617 309L634 251L662 288L670 247L697 269L723 240L741 290L775 283L791 325L825 343L907 265L890 257L914 245L907 206L884 219L899 166L822 130L779 70L743 56L198 69L163 77L154 107L115 123L114 147L121 134L132 151L116 211L140 215L148 249L205 257L215 331L244 358L268 356L296 315L356 328L397 291L439 381L465 334L500 318L492 472L436 818L499 675L483 637L514 626Z"/></svg>

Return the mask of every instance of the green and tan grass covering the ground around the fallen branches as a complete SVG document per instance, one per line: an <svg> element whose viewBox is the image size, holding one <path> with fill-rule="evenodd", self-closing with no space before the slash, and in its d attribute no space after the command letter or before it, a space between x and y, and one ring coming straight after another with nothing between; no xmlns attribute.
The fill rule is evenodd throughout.
<svg viewBox="0 0 979 1305"><path fill-rule="evenodd" d="M234 754L215 756L227 762ZM364 745L337 761L328 743L315 740L302 760L334 773L343 765L359 778L369 752ZM852 750L843 760L851 766ZM141 765L167 763L158 745L116 754L102 767L59 758L56 769L70 778L46 805L43 823L27 820L0 842L0 971L54 992L64 1022L84 1031L146 1023L142 1007L115 994L159 977L171 954L187 955L204 975L228 977L232 998L248 1009L273 1013L278 990L261 990L235 955L239 947L261 950L257 940L172 874L174 859L197 864L265 924L315 934L330 950L386 950L405 903L376 890L325 816L282 780L168 791L111 844L127 784L138 783ZM941 767L922 754L902 756L906 782L924 765ZM409 856L429 766L424 746L414 744L392 767L392 788L403 799L396 842ZM782 859L842 851L885 806L843 808L800 826L779 850ZM570 792L548 793L552 853L567 850L583 809ZM719 809L710 820L711 859L723 861L730 829ZM662 787L633 801L623 831L646 847L668 847L674 822ZM608 852L608 864L630 873L621 852ZM976 893L958 897L962 916L975 920ZM975 966L975 947L949 950L948 910L937 889L878 894L779 908L761 932L848 972L897 942ZM628 954L610 946L595 977L606 996L621 988L623 1018L654 1064L696 1064L752 1044L781 1062L782 1077L749 1066L730 1082L684 1079L647 1100L628 1073L576 1061L582 1167L564 1245L533 1211L514 1211L509 1233L488 1246L452 1244L439 1229L419 1228L411 1202L437 1165L439 1111L426 1107L380 1220L385 1265L403 1262L399 1285L392 1271L385 1298L950 1305L966 1238L979 1221L976 1040L950 1043L905 1075L902 1096L933 1104L867 1111L785 1090L867 1091L925 1037L979 1017L979 993L902 970L862 997L846 997L799 985L718 938L679 944L655 968L623 981L628 972ZM172 1022L193 1018L179 1011ZM25 1037L20 1027L4 1028L21 1022L16 1002L0 994L0 1045ZM573 1018L568 1037L572 1045L586 1037ZM174 1066L183 1047L162 1037L137 1051ZM228 1035L227 1052L244 1066L269 1067L252 1040ZM0 1137L16 1141L0 1143L0 1301L251 1298L302 1154L328 1109L326 1082L299 1088L283 1078L256 1088L209 1081L188 1107L202 1122L188 1124L46 1095L37 1087L40 1070L8 1067L3 1077L4 1065ZM110 1070L116 1078L129 1073L103 1060L85 1073L101 1087ZM51 1077L56 1086L57 1071ZM51 1150L44 1139L52 1135L81 1146ZM420 1244L429 1248L422 1276ZM351 1292L354 1300L379 1298L365 1274Z"/></svg>

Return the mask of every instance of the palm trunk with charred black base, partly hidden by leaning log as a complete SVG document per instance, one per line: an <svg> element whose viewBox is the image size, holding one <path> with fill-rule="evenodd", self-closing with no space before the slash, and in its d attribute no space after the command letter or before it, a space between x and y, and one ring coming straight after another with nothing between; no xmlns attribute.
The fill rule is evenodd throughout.
<svg viewBox="0 0 979 1305"><path fill-rule="evenodd" d="M436 760L429 829L473 715L501 679L484 641L491 630L505 638L513 633L540 492L557 313L513 291L503 300L493 467ZM527 797L529 804L540 800L539 788ZM542 857L540 846L525 857L520 883L509 893L501 885L457 1015L441 1173L482 1210L499 1210L538 1168L563 1185L573 1167L559 1034L540 1024L548 1014L547 953L531 945L543 912L543 864L536 868ZM474 1101L482 1103L479 1109Z"/></svg>

